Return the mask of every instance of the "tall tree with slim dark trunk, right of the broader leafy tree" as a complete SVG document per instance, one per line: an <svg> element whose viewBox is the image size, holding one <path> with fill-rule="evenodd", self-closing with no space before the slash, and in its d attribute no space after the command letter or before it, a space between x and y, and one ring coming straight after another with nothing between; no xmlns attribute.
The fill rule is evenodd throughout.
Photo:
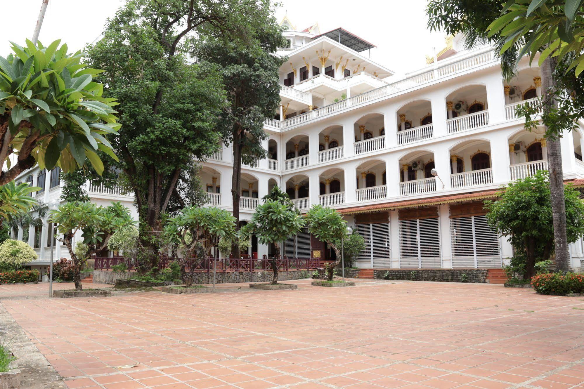
<svg viewBox="0 0 584 389"><path fill-rule="evenodd" d="M271 12L256 20L258 29L251 36L252 43L241 46L225 39L206 39L196 51L197 58L220 66L227 91L228 105L217 125L225 145L233 147L233 174L231 196L233 216L239 222L239 192L241 192L241 164L252 165L265 157L262 141L266 117L272 117L280 105L279 69L286 58L274 52L284 45L281 27ZM239 249L234 245L232 255Z"/></svg>

